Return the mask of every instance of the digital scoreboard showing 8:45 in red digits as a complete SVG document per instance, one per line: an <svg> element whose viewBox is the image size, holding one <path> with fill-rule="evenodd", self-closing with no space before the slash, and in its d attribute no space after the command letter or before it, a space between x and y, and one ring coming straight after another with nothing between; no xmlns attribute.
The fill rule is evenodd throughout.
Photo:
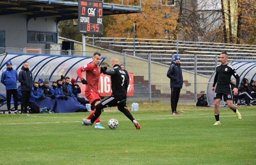
<svg viewBox="0 0 256 165"><path fill-rule="evenodd" d="M84 34L103 34L103 4L97 1L78 2L78 29Z"/></svg>

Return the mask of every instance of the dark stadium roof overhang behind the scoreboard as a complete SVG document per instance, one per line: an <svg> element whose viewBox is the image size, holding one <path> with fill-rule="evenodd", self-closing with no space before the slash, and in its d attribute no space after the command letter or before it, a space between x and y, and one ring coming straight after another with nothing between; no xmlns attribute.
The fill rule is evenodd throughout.
<svg viewBox="0 0 256 165"><path fill-rule="evenodd" d="M140 1L141 2L141 1ZM103 3L103 15L139 13L138 6ZM0 16L8 14L27 14L31 18L53 16L57 22L78 18L78 2L59 0L0 0Z"/></svg>

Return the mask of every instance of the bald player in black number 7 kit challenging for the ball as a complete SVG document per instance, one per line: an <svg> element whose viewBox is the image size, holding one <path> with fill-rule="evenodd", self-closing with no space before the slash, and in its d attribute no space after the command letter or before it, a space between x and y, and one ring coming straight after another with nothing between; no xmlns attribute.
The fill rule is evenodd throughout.
<svg viewBox="0 0 256 165"><path fill-rule="evenodd" d="M83 119L83 122L93 125L95 120L101 115L102 109L117 106L118 110L124 113L126 117L132 121L136 129L140 129L140 124L134 120L131 113L125 108L127 97L127 75L120 67L118 58L112 58L110 63L112 68L110 68L109 71L106 71L101 67L101 72L111 76L112 94L110 97L96 105L96 111L91 119Z"/></svg>

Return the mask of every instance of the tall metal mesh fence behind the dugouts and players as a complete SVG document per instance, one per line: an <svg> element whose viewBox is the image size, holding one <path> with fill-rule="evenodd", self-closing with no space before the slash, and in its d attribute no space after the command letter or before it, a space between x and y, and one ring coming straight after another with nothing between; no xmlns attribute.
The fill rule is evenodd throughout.
<svg viewBox="0 0 256 165"><path fill-rule="evenodd" d="M38 48L37 48L38 49ZM0 48L0 54L27 53L19 48ZM83 55L92 56L94 52L57 51L40 49L41 54ZM129 73L133 73L134 95L128 96L131 102L170 101L170 80L167 70L175 54L161 53L134 53L134 52L101 52L107 59L102 66L110 66L112 57L118 57ZM179 54L183 69L183 88L180 93L180 102L196 102L202 94L207 93L207 84L215 67L220 64L219 55ZM232 60L256 60L253 56L230 55ZM76 75L68 75L75 77Z"/></svg>

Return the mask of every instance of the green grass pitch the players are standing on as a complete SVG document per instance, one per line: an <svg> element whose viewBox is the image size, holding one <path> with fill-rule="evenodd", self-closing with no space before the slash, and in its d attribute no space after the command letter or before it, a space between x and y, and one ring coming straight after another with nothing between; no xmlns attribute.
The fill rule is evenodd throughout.
<svg viewBox="0 0 256 165"><path fill-rule="evenodd" d="M128 105L130 106L130 105ZM140 104L131 112L136 130L121 112L101 114L106 129L82 126L89 113L1 114L0 164L256 164L256 106L220 109L220 126L213 108L169 103ZM108 120L119 122L109 129Z"/></svg>

